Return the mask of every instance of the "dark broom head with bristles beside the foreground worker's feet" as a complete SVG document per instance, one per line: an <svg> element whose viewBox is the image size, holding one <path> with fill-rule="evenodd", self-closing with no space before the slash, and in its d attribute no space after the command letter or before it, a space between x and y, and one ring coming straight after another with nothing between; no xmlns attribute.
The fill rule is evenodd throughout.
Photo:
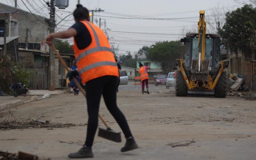
<svg viewBox="0 0 256 160"><path fill-rule="evenodd" d="M112 140L114 142L121 142L121 132L112 130L111 128L107 127L99 127L98 136Z"/></svg>

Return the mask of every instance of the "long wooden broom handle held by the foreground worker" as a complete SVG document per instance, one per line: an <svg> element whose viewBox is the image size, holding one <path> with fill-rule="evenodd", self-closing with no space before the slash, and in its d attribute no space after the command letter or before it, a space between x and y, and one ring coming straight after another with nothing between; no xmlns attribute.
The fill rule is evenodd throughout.
<svg viewBox="0 0 256 160"><path fill-rule="evenodd" d="M60 53L57 51L57 49L55 48L54 44L51 45L53 51L55 52L55 54L58 56L58 58L60 59L61 64L67 69L68 73L70 73L70 69L68 68L67 64L65 63L65 61L63 60L63 58L60 56ZM76 86L79 88L79 90L83 93L84 97L86 98L86 94L84 92L84 89L82 88L82 86L77 82L76 78L73 78L73 81L75 82ZM103 117L100 115L100 113L98 113L98 116L100 117L100 120L105 124L105 126L110 129L109 125L107 124L107 122L103 119Z"/></svg>

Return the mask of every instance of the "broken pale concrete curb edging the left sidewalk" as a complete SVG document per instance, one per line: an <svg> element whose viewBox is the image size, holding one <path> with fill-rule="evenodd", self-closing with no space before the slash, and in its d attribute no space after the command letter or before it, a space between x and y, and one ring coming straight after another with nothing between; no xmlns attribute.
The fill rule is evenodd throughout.
<svg viewBox="0 0 256 160"><path fill-rule="evenodd" d="M68 91L66 91L66 90L60 91L60 92L57 92L56 94L53 94L53 95L60 95L60 94L65 94L65 93L68 93ZM41 97L41 98L39 98L38 96L32 96L30 98L30 100L26 100L26 101L14 100L12 102L3 103L3 104L0 104L0 111L5 110L5 109L15 108L15 107L21 106L21 105L26 104L26 103L30 103L30 102L33 102L33 101L42 100L42 99L50 98L50 97L51 97L51 94L47 93L47 94L44 94L44 96Z"/></svg>

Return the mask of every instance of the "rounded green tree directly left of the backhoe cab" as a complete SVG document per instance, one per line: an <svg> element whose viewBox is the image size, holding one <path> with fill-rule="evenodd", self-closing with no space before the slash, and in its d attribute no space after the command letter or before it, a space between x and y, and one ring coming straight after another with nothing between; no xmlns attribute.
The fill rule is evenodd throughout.
<svg viewBox="0 0 256 160"><path fill-rule="evenodd" d="M160 63L164 74L170 72L176 65L175 59L181 58L185 52L185 45L179 41L156 42L150 46L147 58Z"/></svg>

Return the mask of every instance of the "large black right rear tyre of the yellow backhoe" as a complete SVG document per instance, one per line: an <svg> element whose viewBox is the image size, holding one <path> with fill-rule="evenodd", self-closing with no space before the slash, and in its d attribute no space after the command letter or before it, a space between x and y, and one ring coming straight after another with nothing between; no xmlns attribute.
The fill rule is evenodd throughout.
<svg viewBox="0 0 256 160"><path fill-rule="evenodd" d="M222 72L219 81L215 86L214 96L217 98L225 98L227 96L227 73Z"/></svg>

